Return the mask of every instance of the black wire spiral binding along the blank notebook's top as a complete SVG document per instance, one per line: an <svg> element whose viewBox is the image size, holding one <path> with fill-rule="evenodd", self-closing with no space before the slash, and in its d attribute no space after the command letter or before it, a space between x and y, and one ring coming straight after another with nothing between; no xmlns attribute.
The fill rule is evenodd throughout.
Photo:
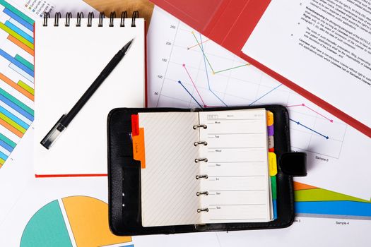
<svg viewBox="0 0 371 247"><path fill-rule="evenodd" d="M50 13L48 12L45 12L44 13L44 20L42 22L42 25L47 27L47 20L50 18ZM59 26L59 19L61 18L61 13L60 12L56 12L54 14L54 27L58 27ZM72 13L71 12L67 12L66 13L66 20L64 22L64 25L66 27L69 27L70 23L71 23L71 18L72 18ZM83 18L83 12L78 12L77 13L77 16L76 16L76 27L81 27L81 18ZM87 26L88 27L91 27L93 25L93 18L94 18L94 13L93 12L89 12L88 13L88 24ZM103 19L105 18L105 12L100 12L99 13L99 18L98 18L98 27L102 27L103 26ZM116 12L115 11L112 11L110 13L110 27L113 27L114 26L114 18L116 18ZM121 20L120 20L120 27L124 27L125 26L125 18L127 18L127 12L126 11L122 11L121 13ZM133 15L131 16L131 27L135 27L135 20L136 18L139 18L139 11L134 11L133 12Z"/></svg>

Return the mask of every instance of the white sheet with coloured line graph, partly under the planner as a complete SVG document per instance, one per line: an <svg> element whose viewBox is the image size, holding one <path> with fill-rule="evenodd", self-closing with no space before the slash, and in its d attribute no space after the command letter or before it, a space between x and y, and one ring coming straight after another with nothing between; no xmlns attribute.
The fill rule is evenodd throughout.
<svg viewBox="0 0 371 247"><path fill-rule="evenodd" d="M208 60L195 37L203 42L200 46ZM308 175L295 180L370 200L371 166L365 161L371 140L366 135L158 7L148 40L149 107L192 108L202 105L202 100L219 107L282 104L291 119L292 150L308 155ZM216 72L228 70L213 73L208 61Z"/></svg>

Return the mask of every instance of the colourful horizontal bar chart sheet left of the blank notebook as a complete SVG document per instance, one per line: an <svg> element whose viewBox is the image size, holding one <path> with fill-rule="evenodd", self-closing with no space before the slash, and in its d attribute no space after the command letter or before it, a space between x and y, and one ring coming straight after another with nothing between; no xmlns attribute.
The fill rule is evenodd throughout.
<svg viewBox="0 0 371 247"><path fill-rule="evenodd" d="M0 0L0 168L34 119L33 23Z"/></svg>

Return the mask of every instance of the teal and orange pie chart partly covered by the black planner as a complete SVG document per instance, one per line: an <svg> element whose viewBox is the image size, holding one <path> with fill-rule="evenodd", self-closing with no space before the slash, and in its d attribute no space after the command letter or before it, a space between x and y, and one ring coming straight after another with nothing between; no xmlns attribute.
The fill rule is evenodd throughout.
<svg viewBox="0 0 371 247"><path fill-rule="evenodd" d="M40 208L23 230L20 246L110 246L118 243L133 246L129 242L131 236L111 233L107 203L77 195L53 200Z"/></svg>

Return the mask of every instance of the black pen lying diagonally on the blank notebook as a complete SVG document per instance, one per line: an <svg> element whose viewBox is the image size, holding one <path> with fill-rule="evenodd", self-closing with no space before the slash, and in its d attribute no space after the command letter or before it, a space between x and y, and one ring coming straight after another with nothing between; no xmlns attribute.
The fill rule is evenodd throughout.
<svg viewBox="0 0 371 247"><path fill-rule="evenodd" d="M134 40L134 39L133 39ZM61 118L55 123L53 128L45 135L45 138L42 139L40 142L41 145L43 145L45 148L49 149L52 147L54 142L57 140L59 135L69 126L69 123L71 123L72 119L80 112L81 108L83 108L84 104L88 102L90 97L94 94L94 92L99 88L99 86L103 83L105 78L110 75L110 73L113 71L113 69L119 64L121 59L125 56L126 52L129 50L131 46L131 42L133 40L130 40L127 44L122 47L122 49L117 52L116 55L111 59L110 63L103 68L100 75L94 80L92 85L84 92L83 96L81 96L80 100L76 102L76 104L72 107L71 111L67 114L63 114Z"/></svg>

